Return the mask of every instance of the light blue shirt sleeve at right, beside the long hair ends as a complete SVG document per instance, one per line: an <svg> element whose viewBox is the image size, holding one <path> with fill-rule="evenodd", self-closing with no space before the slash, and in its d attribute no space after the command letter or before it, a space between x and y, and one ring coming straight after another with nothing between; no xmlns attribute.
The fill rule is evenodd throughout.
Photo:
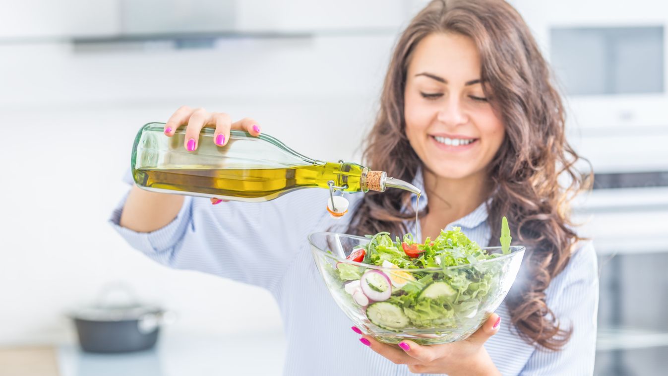
<svg viewBox="0 0 668 376"><path fill-rule="evenodd" d="M548 299L562 328L572 327L570 340L559 351L536 349L520 375L593 375L596 354L599 272L591 242L571 257L566 269L552 281ZM549 288L548 288L549 289Z"/></svg>

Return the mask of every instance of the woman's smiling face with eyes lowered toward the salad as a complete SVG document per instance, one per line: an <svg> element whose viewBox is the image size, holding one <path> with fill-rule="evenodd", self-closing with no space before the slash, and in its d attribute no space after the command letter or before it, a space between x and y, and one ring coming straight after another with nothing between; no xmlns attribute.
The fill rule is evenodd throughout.
<svg viewBox="0 0 668 376"><path fill-rule="evenodd" d="M504 138L480 82L474 41L456 33L422 39L409 63L406 136L426 168L450 179L484 174Z"/></svg>

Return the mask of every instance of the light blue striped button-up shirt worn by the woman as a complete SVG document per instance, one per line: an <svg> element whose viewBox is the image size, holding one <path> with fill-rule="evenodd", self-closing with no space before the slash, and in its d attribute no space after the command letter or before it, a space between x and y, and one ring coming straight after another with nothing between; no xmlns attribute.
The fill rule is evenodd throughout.
<svg viewBox="0 0 668 376"><path fill-rule="evenodd" d="M422 188L420 174L413 183ZM344 232L351 218L350 212L331 218L325 210L328 195L327 190L306 189L269 202L215 206L205 198L186 197L170 224L149 233L118 225L123 200L110 222L134 248L161 264L269 290L279 304L287 339L284 375L413 375L405 365L395 365L359 344L351 321L319 275L307 235L330 229ZM352 211L361 194L346 197ZM423 194L420 206L427 201ZM486 245L490 238L486 220L482 204L446 228L460 226L472 240ZM232 252L240 248L251 251ZM596 254L591 242L585 242L546 289L548 307L562 327L572 325L568 344L558 352L528 345L510 325L508 309L502 304L496 311L502 318L501 329L485 348L503 375L591 375L598 299Z"/></svg>

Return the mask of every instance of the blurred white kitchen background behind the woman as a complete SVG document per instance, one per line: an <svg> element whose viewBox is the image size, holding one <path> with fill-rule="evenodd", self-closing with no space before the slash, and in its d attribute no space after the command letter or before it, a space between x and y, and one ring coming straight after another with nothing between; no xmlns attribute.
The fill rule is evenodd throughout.
<svg viewBox="0 0 668 376"><path fill-rule="evenodd" d="M253 117L306 156L357 161L393 43L425 3L3 1L0 375L281 375L270 293L161 266L108 223L134 137L188 105ZM668 2L510 3L595 172L574 209L599 253L595 373L665 375ZM69 315L104 299L168 311L157 344L82 351Z"/></svg>

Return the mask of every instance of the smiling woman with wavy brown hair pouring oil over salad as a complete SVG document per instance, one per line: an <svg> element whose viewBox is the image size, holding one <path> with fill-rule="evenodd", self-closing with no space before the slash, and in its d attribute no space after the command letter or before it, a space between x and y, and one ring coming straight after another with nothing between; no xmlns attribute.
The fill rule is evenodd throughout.
<svg viewBox="0 0 668 376"><path fill-rule="evenodd" d="M188 107L168 120L166 136L180 126L188 150L204 126L216 127L221 148L230 128L261 132L251 119ZM502 0L427 5L397 43L366 141L367 166L423 189L418 238L460 226L479 244L498 245L505 215L515 242L527 246L512 291L469 339L397 347L360 337L317 272L310 232L410 232L415 202L401 190L348 196L350 213L336 222L323 210L326 190L212 206L134 187L112 222L158 262L271 291L287 336L285 375L593 373L596 257L568 221L568 202L582 186L578 156L520 15Z"/></svg>

